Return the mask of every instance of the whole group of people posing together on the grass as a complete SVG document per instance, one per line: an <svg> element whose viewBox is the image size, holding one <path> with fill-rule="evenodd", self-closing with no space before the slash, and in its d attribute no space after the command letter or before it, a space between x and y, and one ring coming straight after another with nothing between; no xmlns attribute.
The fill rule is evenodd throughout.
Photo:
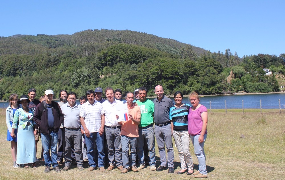
<svg viewBox="0 0 285 180"><path fill-rule="evenodd" d="M50 172L51 166L60 172L58 164L63 159L62 170L70 169L72 163L84 170L85 159L88 160L88 171L97 168L105 171L104 166L108 163L108 171L117 167L121 173L138 172L148 161L151 171L168 169L168 173L174 173L173 136L181 162L181 170L177 173L207 177L204 152L207 108L199 103L196 92L189 95L192 106L182 102L180 91L174 94L175 103L164 96L160 85L155 87L154 93L157 98L151 101L147 99L146 88L141 87L135 92L127 92L123 100L120 89L109 87L105 89L107 100L104 100L102 88L97 87L95 91L88 90L86 96L80 98L80 104L76 103L76 93L66 90L60 91L58 103L53 101L52 90L45 91L42 102L35 102L34 88L20 100L16 94L11 94L6 121L14 167L36 167L36 136L39 134L46 166L44 172ZM128 117L126 121L118 121L121 118L116 109L124 104ZM157 168L155 139L160 155ZM195 172L190 139L199 162L199 171Z"/></svg>

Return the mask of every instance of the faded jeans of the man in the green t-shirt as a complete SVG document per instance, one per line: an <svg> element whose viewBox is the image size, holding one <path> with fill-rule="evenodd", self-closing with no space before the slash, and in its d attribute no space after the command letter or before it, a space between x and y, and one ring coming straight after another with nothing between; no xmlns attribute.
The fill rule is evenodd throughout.
<svg viewBox="0 0 285 180"><path fill-rule="evenodd" d="M139 127L139 138L137 141L137 155L139 159L139 163L141 165L144 165L144 153L143 153L143 144L144 141L146 141L149 151L149 158L150 166L155 166L156 160L155 160L155 146L154 146L154 130L153 127L148 127L146 129L143 129Z"/></svg>

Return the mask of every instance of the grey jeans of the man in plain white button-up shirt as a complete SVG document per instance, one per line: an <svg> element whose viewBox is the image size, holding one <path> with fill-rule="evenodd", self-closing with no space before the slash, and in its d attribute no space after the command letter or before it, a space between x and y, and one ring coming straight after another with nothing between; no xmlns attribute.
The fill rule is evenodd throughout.
<svg viewBox="0 0 285 180"><path fill-rule="evenodd" d="M105 127L105 135L108 144L109 164L116 165L117 167L123 165L121 128L111 129Z"/></svg>

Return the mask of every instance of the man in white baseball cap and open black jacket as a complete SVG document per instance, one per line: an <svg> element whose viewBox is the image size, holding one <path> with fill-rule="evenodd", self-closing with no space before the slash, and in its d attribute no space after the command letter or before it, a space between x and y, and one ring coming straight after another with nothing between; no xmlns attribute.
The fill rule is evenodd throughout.
<svg viewBox="0 0 285 180"><path fill-rule="evenodd" d="M60 172L57 160L58 129L63 121L63 113L60 106L52 101L54 92L50 89L44 94L46 100L37 105L34 113L34 121L40 128L42 147L44 148L44 172L50 172L50 166L56 172ZM51 151L51 157L49 154Z"/></svg>

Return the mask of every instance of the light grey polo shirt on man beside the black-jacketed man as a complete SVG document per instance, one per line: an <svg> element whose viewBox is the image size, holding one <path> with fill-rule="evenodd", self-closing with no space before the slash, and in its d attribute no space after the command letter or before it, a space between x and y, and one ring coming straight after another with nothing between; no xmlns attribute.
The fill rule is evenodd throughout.
<svg viewBox="0 0 285 180"><path fill-rule="evenodd" d="M76 129L80 127L80 106L81 105L77 105L76 103L73 107L71 107L69 103L66 103L61 106L61 110L64 117L64 127L69 129Z"/></svg>

